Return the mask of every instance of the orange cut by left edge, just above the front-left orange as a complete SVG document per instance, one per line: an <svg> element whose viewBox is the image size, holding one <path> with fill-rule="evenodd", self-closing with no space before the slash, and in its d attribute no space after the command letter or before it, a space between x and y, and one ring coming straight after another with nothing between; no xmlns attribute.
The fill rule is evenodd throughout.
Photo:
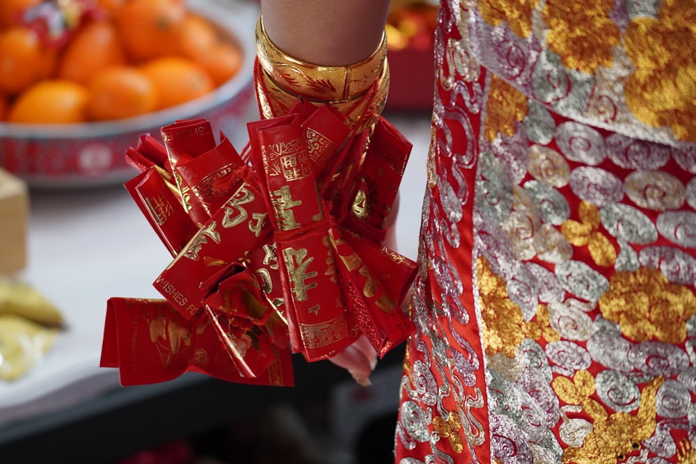
<svg viewBox="0 0 696 464"><path fill-rule="evenodd" d="M43 47L35 31L15 26L0 33L0 88L18 93L49 77L55 54Z"/></svg>

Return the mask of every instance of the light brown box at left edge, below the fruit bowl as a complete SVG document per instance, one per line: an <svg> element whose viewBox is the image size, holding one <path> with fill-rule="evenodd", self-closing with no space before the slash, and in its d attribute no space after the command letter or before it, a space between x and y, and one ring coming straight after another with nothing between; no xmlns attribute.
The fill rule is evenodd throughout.
<svg viewBox="0 0 696 464"><path fill-rule="evenodd" d="M26 266L26 236L29 227L29 189L0 169L0 275Z"/></svg>

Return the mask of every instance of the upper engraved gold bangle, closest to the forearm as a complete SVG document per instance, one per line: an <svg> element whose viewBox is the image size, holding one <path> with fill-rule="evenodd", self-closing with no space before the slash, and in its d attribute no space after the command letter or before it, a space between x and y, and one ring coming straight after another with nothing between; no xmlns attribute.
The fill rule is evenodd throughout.
<svg viewBox="0 0 696 464"><path fill-rule="evenodd" d="M346 66L306 63L285 54L268 37L263 17L256 24L256 53L261 67L275 85L291 94L322 102L344 102L363 95L383 74L386 34L379 47L363 61Z"/></svg>

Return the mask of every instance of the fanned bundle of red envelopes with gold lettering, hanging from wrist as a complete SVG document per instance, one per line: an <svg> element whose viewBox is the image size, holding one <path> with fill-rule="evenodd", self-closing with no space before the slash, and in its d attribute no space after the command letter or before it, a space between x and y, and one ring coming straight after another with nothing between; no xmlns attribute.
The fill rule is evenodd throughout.
<svg viewBox="0 0 696 464"><path fill-rule="evenodd" d="M298 99L250 122L242 152L207 120L161 134L126 153L140 171L126 188L173 260L162 299L108 301L101 365L122 385L185 371L293 385L292 353L323 360L364 336L383 356L411 335L416 265L381 244L411 144L386 120L354 135Z"/></svg>

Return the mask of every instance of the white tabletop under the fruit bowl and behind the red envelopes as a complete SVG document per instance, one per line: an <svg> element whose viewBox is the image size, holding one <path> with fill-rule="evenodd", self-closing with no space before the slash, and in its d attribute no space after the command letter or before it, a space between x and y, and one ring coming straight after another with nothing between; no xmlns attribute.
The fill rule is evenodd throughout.
<svg viewBox="0 0 696 464"><path fill-rule="evenodd" d="M423 113L386 117L413 143L396 232L397 250L416 259L430 117ZM242 146L244 141L232 138L232 142ZM30 198L29 264L22 278L63 312L67 330L26 376L0 382L0 445L3 437L9 440L23 430L17 424L26 429L34 419L119 389L116 369L99 367L106 300L159 298L152 281L171 261L120 184L37 190ZM176 390L177 385L188 384L184 379L160 387Z"/></svg>

